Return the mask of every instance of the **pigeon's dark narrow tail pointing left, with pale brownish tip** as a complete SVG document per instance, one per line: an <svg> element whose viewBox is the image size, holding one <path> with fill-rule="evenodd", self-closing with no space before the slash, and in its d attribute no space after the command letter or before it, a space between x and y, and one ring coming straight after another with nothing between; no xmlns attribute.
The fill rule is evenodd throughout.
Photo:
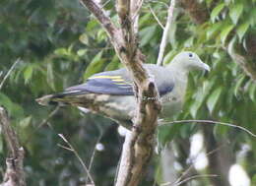
<svg viewBox="0 0 256 186"><path fill-rule="evenodd" d="M65 106L72 102L72 95L84 94L86 92L64 92L55 94L46 94L42 97L36 98L35 101L41 105L60 105Z"/></svg>

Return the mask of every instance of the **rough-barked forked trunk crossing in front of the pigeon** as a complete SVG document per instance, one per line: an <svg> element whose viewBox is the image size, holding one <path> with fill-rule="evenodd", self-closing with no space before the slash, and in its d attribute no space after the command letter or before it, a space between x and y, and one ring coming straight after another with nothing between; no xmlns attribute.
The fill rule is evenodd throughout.
<svg viewBox="0 0 256 186"><path fill-rule="evenodd" d="M120 29L114 27L95 1L82 0L82 3L107 31L120 61L128 69L135 84L134 90L138 100L137 112L134 127L125 139L116 185L136 186L145 174L153 155L154 135L160 112L159 93L154 80L143 67L145 57L138 48L134 27L134 18L139 10L135 13L132 7L140 7L141 1L132 1L136 5L131 5L131 1L125 0L116 2Z"/></svg>

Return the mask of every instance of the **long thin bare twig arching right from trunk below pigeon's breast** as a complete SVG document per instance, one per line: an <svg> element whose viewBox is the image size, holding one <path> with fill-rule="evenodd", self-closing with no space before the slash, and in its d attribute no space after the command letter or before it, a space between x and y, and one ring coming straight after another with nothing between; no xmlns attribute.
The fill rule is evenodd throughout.
<svg viewBox="0 0 256 186"><path fill-rule="evenodd" d="M252 137L256 138L256 134L252 133L251 131L249 131L248 129L246 129L242 126L234 125L231 123L220 122L220 121L212 121L212 120L179 120L179 121L163 122L159 126L168 125L168 124L176 124L176 123L193 123L193 122L201 123L201 124L209 123L209 124L214 124L214 125L224 125L224 126L228 126L228 127L238 128L238 129L248 133Z"/></svg>

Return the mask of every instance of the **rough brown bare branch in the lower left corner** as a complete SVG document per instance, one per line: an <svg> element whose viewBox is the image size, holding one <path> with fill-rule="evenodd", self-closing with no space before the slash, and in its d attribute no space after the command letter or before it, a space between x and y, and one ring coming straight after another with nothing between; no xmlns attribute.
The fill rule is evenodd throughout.
<svg viewBox="0 0 256 186"><path fill-rule="evenodd" d="M24 149L19 145L18 137L10 125L7 113L1 106L0 126L9 150L9 157L6 159L7 168L0 186L26 186L23 169Z"/></svg>

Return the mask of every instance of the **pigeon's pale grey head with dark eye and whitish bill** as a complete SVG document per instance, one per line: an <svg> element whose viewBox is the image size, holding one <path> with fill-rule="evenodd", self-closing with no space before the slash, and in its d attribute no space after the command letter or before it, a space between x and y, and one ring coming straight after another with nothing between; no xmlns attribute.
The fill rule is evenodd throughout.
<svg viewBox="0 0 256 186"><path fill-rule="evenodd" d="M206 70L210 71L209 65L204 63L196 53L191 51L183 51L177 54L169 66L176 68L182 68L184 71L189 72L191 70Z"/></svg>

